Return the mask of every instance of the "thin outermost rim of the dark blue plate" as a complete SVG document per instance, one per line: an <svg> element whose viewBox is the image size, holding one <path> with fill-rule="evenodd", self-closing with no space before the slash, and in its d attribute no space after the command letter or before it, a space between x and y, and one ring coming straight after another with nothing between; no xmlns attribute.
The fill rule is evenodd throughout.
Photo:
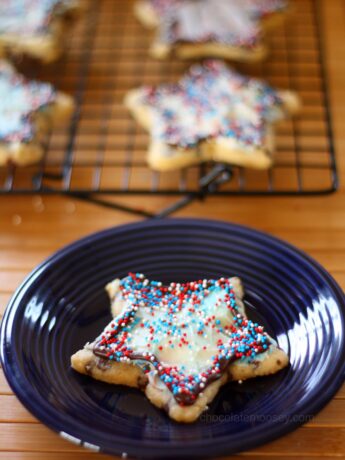
<svg viewBox="0 0 345 460"><path fill-rule="evenodd" d="M73 427L76 428L74 430L68 431L64 429L60 429L57 425L58 423L54 423L54 421L51 420L52 417L50 416L45 416L46 414L42 414L42 412L39 410L40 406L40 401L39 400L31 400L28 397L28 391L27 389L25 391L21 390L21 386L19 385L19 381L13 379L13 369L16 366L16 362L14 360L11 360L11 357L6 357L6 346L7 344L7 327L8 327L8 322L11 318L11 315L13 315L16 311L16 308L19 307L20 303L20 296L23 296L26 292L27 289L30 288L33 280L39 276L39 274L44 271L44 269L49 266L52 262L57 262L61 258L66 257L70 252L74 252L78 250L80 247L84 246L85 244L91 243L98 241L99 239L106 238L108 235L113 235L114 233L122 233L124 231L129 231L132 229L140 229L143 227L151 227L151 226L179 226L179 225L204 225L204 226L213 226L214 228L218 227L219 229L222 230L228 230L228 231L240 231L240 232L246 232L249 234L255 234L256 236L260 237L263 240L268 240L270 243L274 243L275 245L278 246L283 246L284 249L287 249L288 251L292 252L294 255L298 255L302 259L304 259L309 265L311 265L314 269L316 269L319 273L319 275L327 281L327 283L330 285L333 294L336 295L337 299L337 306L339 308L339 311L342 313L342 329L343 329L343 340L342 340L342 352L341 355L339 356L338 359L338 373L335 376L335 378L332 380L330 385L327 387L327 390L324 391L322 394L319 393L318 400L315 403L308 403L308 415L315 416L336 394L336 392L340 389L342 384L344 383L345 379L345 359L340 362L340 357L345 358L345 294L342 290L342 288L339 286L337 281L333 278L333 276L328 273L328 271L314 258L312 258L309 254L307 254L305 251L299 249L298 247L292 245L291 243L280 239L279 237L276 237L274 235L271 235L270 233L257 230L253 227L246 226L246 225L241 225L233 222L227 222L227 221L222 221L222 220L215 220L215 219L200 219L200 218L169 218L169 219L162 219L162 220L145 220L145 221L139 221L139 222L132 222L132 223L127 223L119 226L113 226L106 228L104 230L100 230L97 232L93 232L89 235L86 235L80 239L77 239L62 248L58 249L55 251L52 255L50 255L48 258L43 260L40 264L38 264L29 274L24 278L24 280L20 283L18 288L15 290L13 295L11 296L5 313L3 315L3 320L1 322L1 328L0 328L0 361L3 367L4 375L6 377L6 380L11 387L12 391L14 392L15 396L20 400L20 402L24 405L24 407L29 410L30 413L34 415L39 421L41 421L44 425L46 425L48 428L53 430L54 432L58 433L61 435L63 432L65 436L65 439L69 439L70 441L74 442L84 446L86 448L89 448L91 450L97 450L99 452L105 453L105 454L111 454L111 455L121 455L122 453L128 453L128 455L133 455L133 456L138 456L140 455L142 458L162 458L162 456L166 456L165 454L162 454L162 448L163 448L163 441L146 441L145 439L140 440L140 445L138 447L130 447L128 449L128 440L126 439L125 441L121 441L123 439L122 437L116 436L114 437L115 441L115 446L114 449L107 449L103 448L102 446L96 446L92 444L92 442L89 441L83 441L83 430L85 430L85 426L81 427ZM21 375L21 377L23 377ZM37 393L36 393L37 394ZM35 405L36 401L36 405ZM51 407L51 406L49 406ZM56 410L54 410L56 412ZM303 407L301 412L303 412ZM80 424L80 422L77 422ZM256 436L251 438L250 440L246 440L246 445L245 446L237 446L237 443L235 443L235 446L228 446L226 444L226 435L222 435L221 437L217 438L217 445L214 446L212 445L212 439L198 439L197 441L193 441L193 443L189 446L179 446L179 447L171 447L169 446L169 456L173 456L172 458L179 458L183 456L197 456L198 458L201 457L208 457L208 456L218 456L218 455L231 455L235 452L240 452L243 450L250 450L254 447L257 447L259 445L266 444L268 442L271 442L281 436L284 436L285 434L295 430L298 426L301 426L304 422L302 421L289 421L289 423L282 424L282 423L276 423L275 425L270 427L270 433L265 437L265 440L262 440L261 436L261 431L266 431L267 430L267 425L264 425L260 427L257 430ZM72 424L73 425L73 424ZM92 429L90 431L90 434L92 434ZM89 431L84 431L85 433L88 433ZM86 436L87 437L87 436ZM72 438L72 439L71 439ZM129 439L129 438L128 438ZM77 442L78 441L78 442ZM175 441L176 442L176 441ZM120 446L123 447L120 447ZM167 446L166 446L167 447ZM207 453L205 453L205 449L207 447ZM182 452L181 449L183 450ZM189 452L187 452L187 450ZM127 452L128 451L128 452Z"/></svg>

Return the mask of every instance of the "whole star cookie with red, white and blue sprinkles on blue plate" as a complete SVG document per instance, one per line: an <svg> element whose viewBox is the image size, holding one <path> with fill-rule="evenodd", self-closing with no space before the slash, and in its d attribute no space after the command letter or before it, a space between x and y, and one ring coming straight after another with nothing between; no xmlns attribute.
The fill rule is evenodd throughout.
<svg viewBox="0 0 345 460"><path fill-rule="evenodd" d="M107 286L115 318L72 367L143 390L178 422L193 422L229 380L273 374L288 357L249 320L238 278L163 286L129 274Z"/></svg>

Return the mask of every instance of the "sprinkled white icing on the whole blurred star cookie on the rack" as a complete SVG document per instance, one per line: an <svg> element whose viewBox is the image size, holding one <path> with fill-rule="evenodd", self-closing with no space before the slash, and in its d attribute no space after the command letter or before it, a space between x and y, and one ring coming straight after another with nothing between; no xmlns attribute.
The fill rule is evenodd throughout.
<svg viewBox="0 0 345 460"><path fill-rule="evenodd" d="M153 138L182 147L227 137L255 148L263 143L267 123L284 115L276 91L220 61L193 66L178 85L144 90L143 103L153 111Z"/></svg>

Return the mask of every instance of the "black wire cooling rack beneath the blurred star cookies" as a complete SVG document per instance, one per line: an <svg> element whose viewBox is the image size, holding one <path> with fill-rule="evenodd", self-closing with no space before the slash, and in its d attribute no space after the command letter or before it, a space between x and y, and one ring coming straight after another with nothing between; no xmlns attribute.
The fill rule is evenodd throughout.
<svg viewBox="0 0 345 460"><path fill-rule="evenodd" d="M204 164L173 173L147 167L148 135L122 101L128 90L141 84L177 80L190 63L149 57L153 35L134 18L133 4L132 0L91 0L63 59L48 67L20 63L27 75L74 94L77 109L69 129L51 134L38 165L0 169L1 194L69 194L151 216L103 196L183 195L161 214L165 215L207 194L314 195L337 189L321 2L295 1L286 23L267 37L269 58L260 64L236 65L276 87L295 90L302 100L299 116L277 128L274 166L256 171Z"/></svg>

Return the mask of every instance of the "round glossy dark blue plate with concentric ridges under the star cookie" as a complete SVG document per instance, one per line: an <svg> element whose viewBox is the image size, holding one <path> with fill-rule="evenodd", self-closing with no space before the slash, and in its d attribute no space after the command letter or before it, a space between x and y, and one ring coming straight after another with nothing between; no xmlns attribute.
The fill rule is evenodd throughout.
<svg viewBox="0 0 345 460"><path fill-rule="evenodd" d="M239 275L246 304L291 366L223 387L191 425L174 423L138 390L70 369L70 356L110 320L104 285L129 271L163 282ZM231 454L308 421L345 369L344 294L306 254L271 236L208 220L148 221L97 233L40 265L12 298L1 359L21 402L71 441L141 458Z"/></svg>

